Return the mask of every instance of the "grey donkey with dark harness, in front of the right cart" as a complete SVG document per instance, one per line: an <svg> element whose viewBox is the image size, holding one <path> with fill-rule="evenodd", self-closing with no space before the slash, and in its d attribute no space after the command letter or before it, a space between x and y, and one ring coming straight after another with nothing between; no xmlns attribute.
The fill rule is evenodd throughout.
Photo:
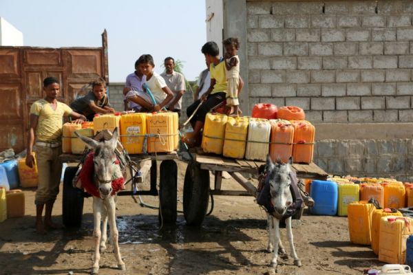
<svg viewBox="0 0 413 275"><path fill-rule="evenodd" d="M279 235L279 221L285 219L287 239L290 243L290 256L294 258L294 265L301 266L297 253L295 252L293 242L293 230L291 228L291 216L295 209L301 208L301 196L297 197L297 192L292 192L292 184L297 184L297 178L291 168L293 159L284 164L282 162L273 163L271 158L267 157L266 176L263 177L264 188L257 199L262 206L266 206L267 223L268 223L268 252L273 252L271 265L277 267L278 254L286 256L286 250L282 245ZM269 194L268 194L269 193ZM264 202L262 199L264 198ZM288 256L287 256L288 257Z"/></svg>

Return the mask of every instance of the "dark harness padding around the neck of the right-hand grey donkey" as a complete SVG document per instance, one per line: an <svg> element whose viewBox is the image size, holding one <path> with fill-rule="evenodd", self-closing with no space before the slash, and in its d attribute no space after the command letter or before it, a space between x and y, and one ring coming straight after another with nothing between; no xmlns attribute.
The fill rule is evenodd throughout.
<svg viewBox="0 0 413 275"><path fill-rule="evenodd" d="M275 212L275 208L271 202L270 173L268 173L266 165L260 166L259 171L260 176L258 177L258 192L260 192L260 195L257 197L257 203L260 204L260 206L264 206L268 213L273 214ZM282 216L282 219L292 217L296 212L301 210L303 205L303 199L299 192L297 174L292 171L289 176L291 180L290 192L293 197L293 203L288 206L286 212Z"/></svg>

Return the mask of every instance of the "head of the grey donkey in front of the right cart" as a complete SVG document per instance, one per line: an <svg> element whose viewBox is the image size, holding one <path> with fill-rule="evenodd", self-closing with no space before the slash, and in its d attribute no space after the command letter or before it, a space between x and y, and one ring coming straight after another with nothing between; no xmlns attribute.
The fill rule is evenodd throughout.
<svg viewBox="0 0 413 275"><path fill-rule="evenodd" d="M272 162L271 158L267 157L267 180L270 184L271 202L275 209L273 216L277 219L281 219L288 206L293 203L293 196L290 191L292 163L292 157L290 157L286 164L279 160Z"/></svg>

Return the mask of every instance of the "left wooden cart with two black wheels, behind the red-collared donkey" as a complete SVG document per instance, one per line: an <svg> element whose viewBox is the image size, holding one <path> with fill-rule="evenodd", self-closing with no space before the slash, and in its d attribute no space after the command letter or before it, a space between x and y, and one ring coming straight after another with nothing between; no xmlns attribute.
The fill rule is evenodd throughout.
<svg viewBox="0 0 413 275"><path fill-rule="evenodd" d="M82 155L62 154L59 159L61 162L79 163ZM163 223L174 223L176 221L176 202L177 202L177 181L178 166L175 159L178 159L176 152L129 155L130 162L127 164L131 178L126 184L131 184L130 190L118 192L118 196L127 195L152 195L159 196L160 209L162 212ZM157 188L157 165L160 161L160 180L159 192ZM90 197L89 194L73 187L72 181L78 166L68 166L63 176L63 224L67 227L79 227L83 216L83 200ZM149 190L137 190L137 184L150 175Z"/></svg>

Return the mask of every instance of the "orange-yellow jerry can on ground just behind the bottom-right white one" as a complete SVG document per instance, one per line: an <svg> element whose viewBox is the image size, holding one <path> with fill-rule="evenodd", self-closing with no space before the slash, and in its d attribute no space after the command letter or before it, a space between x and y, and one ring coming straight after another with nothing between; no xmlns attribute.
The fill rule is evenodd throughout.
<svg viewBox="0 0 413 275"><path fill-rule="evenodd" d="M379 261L399 263L406 259L406 241L413 234L413 219L387 216L380 220Z"/></svg>

